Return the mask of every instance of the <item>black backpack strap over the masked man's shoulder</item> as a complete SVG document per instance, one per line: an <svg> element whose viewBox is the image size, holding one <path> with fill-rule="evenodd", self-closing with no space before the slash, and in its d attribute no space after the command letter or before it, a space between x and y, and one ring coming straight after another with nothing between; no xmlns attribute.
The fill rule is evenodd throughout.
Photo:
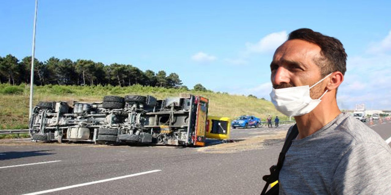
<svg viewBox="0 0 391 195"><path fill-rule="evenodd" d="M291 133L289 133L287 139L285 140L285 143L282 147L280 155L278 156L277 165L273 165L270 167L270 175L265 175L264 177L262 177L262 179L264 181L266 181L266 184L265 184L264 189L262 190L261 195L265 194L267 187L269 187L269 184L278 180L278 176L280 175L280 170L281 170L282 165L285 160L285 154L287 153L289 147L291 147L292 140L294 140L297 137L297 135L299 134L297 124L294 124L293 126L291 126L291 128L289 128L289 130L291 130Z"/></svg>

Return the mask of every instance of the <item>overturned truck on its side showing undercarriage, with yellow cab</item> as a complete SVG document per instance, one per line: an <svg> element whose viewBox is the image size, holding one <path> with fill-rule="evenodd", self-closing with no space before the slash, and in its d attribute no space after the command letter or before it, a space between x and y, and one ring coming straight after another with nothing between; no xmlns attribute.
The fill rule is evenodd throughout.
<svg viewBox="0 0 391 195"><path fill-rule="evenodd" d="M102 102L41 101L30 116L32 140L95 144L203 146L207 135L228 138L228 118L208 120L208 99L180 94L104 96Z"/></svg>

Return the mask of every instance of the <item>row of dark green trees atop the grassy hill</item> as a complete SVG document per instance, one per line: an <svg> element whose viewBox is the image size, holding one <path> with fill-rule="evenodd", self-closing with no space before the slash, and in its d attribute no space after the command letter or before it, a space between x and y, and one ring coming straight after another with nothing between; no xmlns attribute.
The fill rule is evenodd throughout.
<svg viewBox="0 0 391 195"><path fill-rule="evenodd" d="M30 83L31 56L22 60L11 54L0 56L0 82L11 85ZM130 86L140 84L152 87L188 88L183 85L176 73L163 70L155 73L142 71L130 64L104 65L102 62L78 59L59 59L51 57L45 62L34 58L35 85L112 85ZM197 84L198 87L203 87ZM205 89L206 90L206 89Z"/></svg>

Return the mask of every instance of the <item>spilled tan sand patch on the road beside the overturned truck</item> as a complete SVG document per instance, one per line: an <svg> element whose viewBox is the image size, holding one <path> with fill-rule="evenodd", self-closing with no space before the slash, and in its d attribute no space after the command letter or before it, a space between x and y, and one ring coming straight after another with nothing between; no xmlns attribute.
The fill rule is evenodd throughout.
<svg viewBox="0 0 391 195"><path fill-rule="evenodd" d="M217 144L217 145L202 147L197 149L197 151L205 152L205 153L223 154L223 153L233 153L233 152L240 152L240 151L263 149L271 143L271 142L268 143L268 140L274 140L273 142L275 142L275 140L283 141L283 139L285 139L286 134L287 134L287 130L274 131L273 133L268 135L259 135L255 137L250 137L240 142Z"/></svg>

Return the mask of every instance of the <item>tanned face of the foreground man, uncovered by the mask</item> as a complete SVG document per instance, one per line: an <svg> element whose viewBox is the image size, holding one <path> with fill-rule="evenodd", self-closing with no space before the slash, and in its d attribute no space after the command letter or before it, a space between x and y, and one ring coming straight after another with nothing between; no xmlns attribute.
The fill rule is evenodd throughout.
<svg viewBox="0 0 391 195"><path fill-rule="evenodd" d="M316 44L299 39L283 43L277 48L270 64L273 88L312 86L321 80L320 69L315 64L315 60L321 57L320 51L321 48ZM312 99L323 94L322 83L311 89Z"/></svg>

